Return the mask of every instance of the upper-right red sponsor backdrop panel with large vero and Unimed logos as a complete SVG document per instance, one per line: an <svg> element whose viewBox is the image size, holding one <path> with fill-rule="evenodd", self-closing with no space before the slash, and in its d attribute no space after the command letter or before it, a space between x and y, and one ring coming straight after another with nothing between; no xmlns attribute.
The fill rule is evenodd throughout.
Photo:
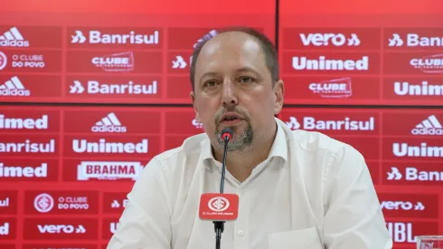
<svg viewBox="0 0 443 249"><path fill-rule="evenodd" d="M279 3L286 103L443 106L441 1Z"/></svg>

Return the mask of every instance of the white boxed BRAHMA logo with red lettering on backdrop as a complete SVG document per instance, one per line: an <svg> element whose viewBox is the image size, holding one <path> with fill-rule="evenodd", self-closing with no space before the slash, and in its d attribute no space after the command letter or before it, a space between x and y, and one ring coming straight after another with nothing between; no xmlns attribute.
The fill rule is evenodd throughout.
<svg viewBox="0 0 443 249"><path fill-rule="evenodd" d="M77 167L77 180L127 178L135 181L142 170L143 166L140 162L83 161Z"/></svg>

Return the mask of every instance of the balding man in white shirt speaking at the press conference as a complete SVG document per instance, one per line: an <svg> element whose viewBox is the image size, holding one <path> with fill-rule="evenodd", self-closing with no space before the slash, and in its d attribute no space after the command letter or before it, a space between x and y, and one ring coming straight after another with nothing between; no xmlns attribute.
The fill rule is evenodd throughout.
<svg viewBox="0 0 443 249"><path fill-rule="evenodd" d="M285 92L272 43L248 29L205 39L193 53L191 98L205 133L153 158L128 194L109 249L214 248L199 219L200 196L240 196L221 248L391 249L391 236L363 156L318 132L291 131L275 118Z"/></svg>

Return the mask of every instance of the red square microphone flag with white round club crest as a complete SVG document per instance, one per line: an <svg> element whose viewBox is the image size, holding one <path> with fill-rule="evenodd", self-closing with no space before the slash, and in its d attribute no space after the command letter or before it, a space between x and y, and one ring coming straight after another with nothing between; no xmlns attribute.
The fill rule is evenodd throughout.
<svg viewBox="0 0 443 249"><path fill-rule="evenodd" d="M199 216L203 220L230 221L239 215L236 194L206 193L200 197Z"/></svg>

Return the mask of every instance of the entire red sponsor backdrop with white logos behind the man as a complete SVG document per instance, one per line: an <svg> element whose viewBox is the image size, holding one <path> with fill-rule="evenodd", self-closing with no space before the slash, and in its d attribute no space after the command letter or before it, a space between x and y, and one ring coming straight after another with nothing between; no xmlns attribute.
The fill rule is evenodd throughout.
<svg viewBox="0 0 443 249"><path fill-rule="evenodd" d="M6 2L1 248L106 248L146 163L203 132L193 45L231 25L278 43L287 126L363 153L395 248L443 234L442 3Z"/></svg>

